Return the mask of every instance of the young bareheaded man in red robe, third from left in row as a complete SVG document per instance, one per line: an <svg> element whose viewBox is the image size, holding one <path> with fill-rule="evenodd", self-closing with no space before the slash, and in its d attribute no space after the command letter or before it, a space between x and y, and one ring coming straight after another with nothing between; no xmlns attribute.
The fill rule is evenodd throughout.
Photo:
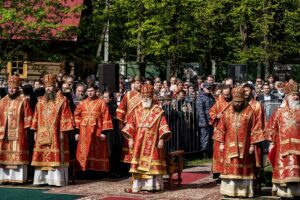
<svg viewBox="0 0 300 200"><path fill-rule="evenodd" d="M76 128L80 130L76 159L83 171L109 171L109 154L105 131L113 125L108 107L96 95L94 85L87 88L88 98L74 112Z"/></svg>

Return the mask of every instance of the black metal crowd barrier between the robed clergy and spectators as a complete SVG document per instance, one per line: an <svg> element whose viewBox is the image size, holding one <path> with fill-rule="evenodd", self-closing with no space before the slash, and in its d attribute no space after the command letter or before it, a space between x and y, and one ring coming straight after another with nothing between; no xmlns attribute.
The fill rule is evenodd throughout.
<svg viewBox="0 0 300 200"><path fill-rule="evenodd" d="M165 111L172 138L166 143L167 152L184 150L186 153L196 153L201 150L200 134L198 133L198 119L196 105L193 101L161 101ZM263 102L266 120L280 106L279 101ZM212 136L210 137L212 146ZM264 145L266 146L266 145Z"/></svg>

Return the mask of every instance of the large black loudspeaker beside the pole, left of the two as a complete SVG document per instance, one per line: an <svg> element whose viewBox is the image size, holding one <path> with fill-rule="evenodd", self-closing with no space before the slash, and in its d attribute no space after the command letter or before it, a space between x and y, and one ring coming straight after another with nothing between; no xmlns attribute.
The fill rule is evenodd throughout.
<svg viewBox="0 0 300 200"><path fill-rule="evenodd" d="M119 65L101 64L98 66L97 77L103 91L119 91Z"/></svg>

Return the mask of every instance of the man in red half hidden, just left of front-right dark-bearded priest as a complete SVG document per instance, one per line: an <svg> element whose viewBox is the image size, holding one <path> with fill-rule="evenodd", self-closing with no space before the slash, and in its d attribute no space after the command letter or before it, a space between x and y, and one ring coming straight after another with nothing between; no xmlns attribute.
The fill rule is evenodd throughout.
<svg viewBox="0 0 300 200"><path fill-rule="evenodd" d="M219 120L221 119L225 110L227 110L231 104L232 96L231 96L231 87L229 85L225 85L222 88L221 95L217 98L216 103L209 110L210 115L210 125L216 127L218 125ZM222 168L222 152L219 151L219 142L214 142L214 151L213 151L213 162L212 162L212 173L214 178L217 178L220 175L220 168Z"/></svg>

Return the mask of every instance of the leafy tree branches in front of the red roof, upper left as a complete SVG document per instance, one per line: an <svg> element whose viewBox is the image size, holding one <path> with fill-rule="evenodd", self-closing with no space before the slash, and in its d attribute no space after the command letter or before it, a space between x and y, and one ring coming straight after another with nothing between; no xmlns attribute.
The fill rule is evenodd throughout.
<svg viewBox="0 0 300 200"><path fill-rule="evenodd" d="M0 0L0 63L19 51L38 50L46 41L72 39L75 27L62 21L80 9L61 0Z"/></svg>

